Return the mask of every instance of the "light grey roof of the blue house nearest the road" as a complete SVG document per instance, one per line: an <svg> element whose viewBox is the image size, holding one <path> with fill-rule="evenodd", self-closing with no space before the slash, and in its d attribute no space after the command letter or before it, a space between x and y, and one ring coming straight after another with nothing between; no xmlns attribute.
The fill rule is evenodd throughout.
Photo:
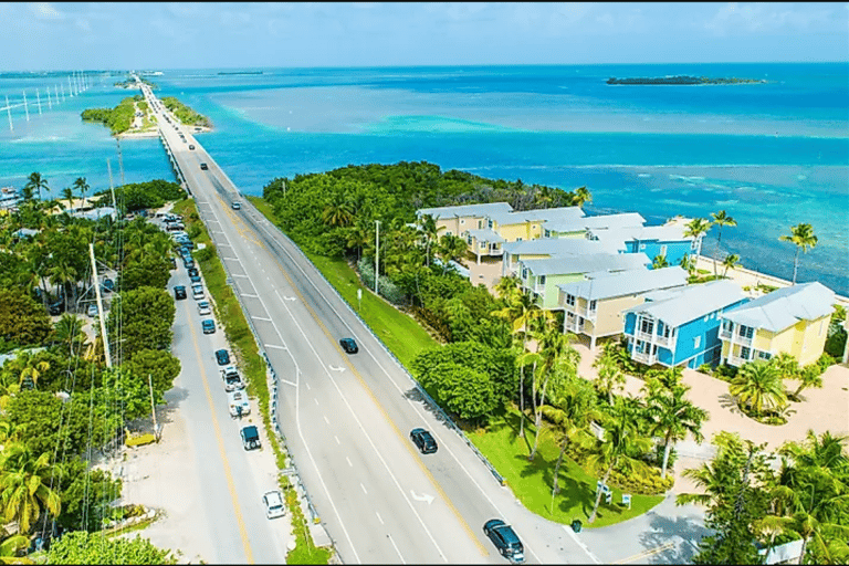
<svg viewBox="0 0 849 566"><path fill-rule="evenodd" d="M746 295L740 285L723 279L647 293L646 303L626 308L622 313L646 313L670 326L681 326L744 298Z"/></svg>

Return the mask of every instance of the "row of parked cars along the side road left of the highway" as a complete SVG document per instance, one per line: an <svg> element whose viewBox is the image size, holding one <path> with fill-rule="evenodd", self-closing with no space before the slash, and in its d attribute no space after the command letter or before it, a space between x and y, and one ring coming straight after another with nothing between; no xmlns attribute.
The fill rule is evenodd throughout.
<svg viewBox="0 0 849 566"><path fill-rule="evenodd" d="M167 219L168 217L164 218ZM186 268L189 281L191 282L191 296L197 301L198 314L201 316L211 315L211 307L209 301L206 300L200 273L195 265L193 259L191 258L191 250L195 248L191 239L188 237L188 234L186 234L186 232L182 231L175 231L171 237L177 243L180 244L177 252L182 258L184 266ZM186 286L176 285L174 287L174 296L178 301L187 298L188 293L186 291ZM216 323L212 318L202 318L200 324L203 329L203 334L213 334L216 332ZM235 365L232 363L230 353L227 349L216 350L216 363L220 367L221 380L228 397L230 416L241 419L242 417L250 415L251 405L248 401L245 384ZM254 424L241 427L239 430L239 436L242 440L242 447L244 450L256 450L262 447L262 442L260 440L260 431ZM286 507L283 502L283 495L277 490L265 492L262 495L262 504L265 509L265 516L268 518L276 518L285 515Z"/></svg>

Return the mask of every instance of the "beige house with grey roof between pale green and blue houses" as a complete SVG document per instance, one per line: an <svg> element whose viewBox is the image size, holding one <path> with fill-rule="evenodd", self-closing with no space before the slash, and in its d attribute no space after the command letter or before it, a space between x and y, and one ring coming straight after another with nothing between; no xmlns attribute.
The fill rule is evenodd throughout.
<svg viewBox="0 0 849 566"><path fill-rule="evenodd" d="M642 304L643 294L686 285L686 272L679 266L630 270L559 286L558 303L566 313L563 332L589 337L589 347L605 336L625 329L622 311Z"/></svg>

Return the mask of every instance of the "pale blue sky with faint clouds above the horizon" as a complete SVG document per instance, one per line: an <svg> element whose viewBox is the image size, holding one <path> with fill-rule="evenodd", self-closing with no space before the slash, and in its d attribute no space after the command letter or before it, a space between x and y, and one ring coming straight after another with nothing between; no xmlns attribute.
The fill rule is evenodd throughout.
<svg viewBox="0 0 849 566"><path fill-rule="evenodd" d="M0 2L0 71L849 61L849 3Z"/></svg>

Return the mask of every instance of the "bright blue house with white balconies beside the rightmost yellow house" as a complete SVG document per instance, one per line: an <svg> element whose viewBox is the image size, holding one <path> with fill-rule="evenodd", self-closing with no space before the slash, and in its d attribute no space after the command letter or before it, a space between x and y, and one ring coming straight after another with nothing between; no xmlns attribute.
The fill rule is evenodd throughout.
<svg viewBox="0 0 849 566"><path fill-rule="evenodd" d="M654 291L644 296L643 304L622 313L631 359L648 366L686 365L691 369L719 363L721 316L748 301L731 280Z"/></svg>

